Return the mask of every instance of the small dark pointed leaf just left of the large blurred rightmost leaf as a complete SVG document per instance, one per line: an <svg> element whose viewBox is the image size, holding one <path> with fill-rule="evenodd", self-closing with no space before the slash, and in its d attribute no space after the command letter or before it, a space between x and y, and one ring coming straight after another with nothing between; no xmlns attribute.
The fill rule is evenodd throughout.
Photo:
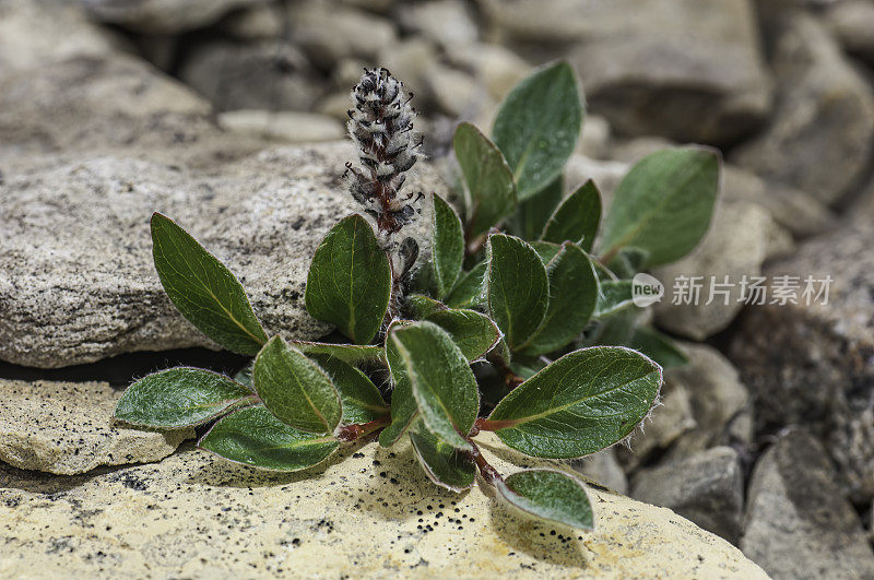
<svg viewBox="0 0 874 580"><path fill-rule="evenodd" d="M543 228L542 238L556 244L574 241L583 250L591 251L600 222L601 193L589 179L555 210Z"/></svg>

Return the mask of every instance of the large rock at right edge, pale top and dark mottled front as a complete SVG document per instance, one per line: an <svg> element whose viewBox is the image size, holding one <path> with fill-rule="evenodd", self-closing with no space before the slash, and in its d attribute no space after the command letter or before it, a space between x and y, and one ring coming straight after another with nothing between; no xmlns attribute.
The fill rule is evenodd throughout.
<svg viewBox="0 0 874 580"><path fill-rule="evenodd" d="M874 497L874 261L870 215L811 240L765 270L798 276L799 304L751 308L731 355L756 396L760 428L803 424L826 442L850 497ZM805 280L830 276L828 303ZM772 300L772 296L768 296Z"/></svg>

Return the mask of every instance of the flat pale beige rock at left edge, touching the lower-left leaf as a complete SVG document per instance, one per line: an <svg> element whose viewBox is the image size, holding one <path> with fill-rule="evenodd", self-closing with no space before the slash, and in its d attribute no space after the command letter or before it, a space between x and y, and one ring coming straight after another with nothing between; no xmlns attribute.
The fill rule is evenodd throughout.
<svg viewBox="0 0 874 580"><path fill-rule="evenodd" d="M160 461L194 430L129 429L113 422L121 394L105 382L0 379L0 461L70 475L99 465Z"/></svg>

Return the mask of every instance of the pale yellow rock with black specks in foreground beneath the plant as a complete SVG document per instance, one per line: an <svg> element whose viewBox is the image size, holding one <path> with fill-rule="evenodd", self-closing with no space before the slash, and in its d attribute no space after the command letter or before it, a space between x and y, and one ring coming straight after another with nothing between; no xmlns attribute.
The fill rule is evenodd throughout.
<svg viewBox="0 0 874 580"><path fill-rule="evenodd" d="M503 473L519 469L477 440ZM349 447L298 474L192 449L90 477L0 467L0 577L766 578L668 509L590 497L594 532L524 519L489 489L437 488L405 445Z"/></svg>

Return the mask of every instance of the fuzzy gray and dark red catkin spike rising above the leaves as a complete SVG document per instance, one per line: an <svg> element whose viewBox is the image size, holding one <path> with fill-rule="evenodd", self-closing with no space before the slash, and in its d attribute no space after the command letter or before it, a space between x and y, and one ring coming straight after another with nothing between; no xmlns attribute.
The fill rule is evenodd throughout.
<svg viewBox="0 0 874 580"><path fill-rule="evenodd" d="M411 98L403 83L383 68L365 69L352 90L354 108L349 110L347 127L361 166L346 164L350 192L376 220L387 247L392 234L422 214L424 196L401 191L422 145L422 137L413 130L416 114Z"/></svg>

